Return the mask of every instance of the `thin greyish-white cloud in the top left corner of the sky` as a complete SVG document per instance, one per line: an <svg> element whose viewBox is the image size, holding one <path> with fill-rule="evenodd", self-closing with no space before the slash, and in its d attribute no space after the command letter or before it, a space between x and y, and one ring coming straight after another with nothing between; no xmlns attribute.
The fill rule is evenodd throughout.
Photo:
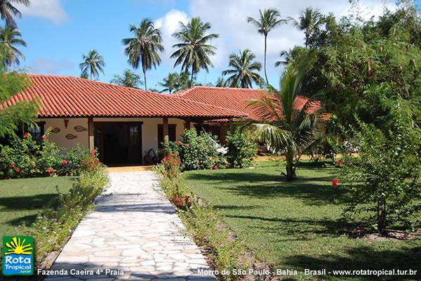
<svg viewBox="0 0 421 281"><path fill-rule="evenodd" d="M16 8L22 12L24 17L46 18L57 25L69 18L60 0L31 0L28 7L16 4Z"/></svg>

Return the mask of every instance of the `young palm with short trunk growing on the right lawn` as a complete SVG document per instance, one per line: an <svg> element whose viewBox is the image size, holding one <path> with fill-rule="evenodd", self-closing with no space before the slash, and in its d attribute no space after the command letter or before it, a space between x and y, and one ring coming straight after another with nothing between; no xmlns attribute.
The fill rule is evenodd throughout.
<svg viewBox="0 0 421 281"><path fill-rule="evenodd" d="M309 58L288 65L281 79L281 90L269 89L269 94L250 100L250 106L262 112L260 122L254 124L255 133L276 152L286 156L286 178L296 178L295 169L302 153L317 138L319 105L308 99L302 105L298 99L302 79L307 72Z"/></svg>

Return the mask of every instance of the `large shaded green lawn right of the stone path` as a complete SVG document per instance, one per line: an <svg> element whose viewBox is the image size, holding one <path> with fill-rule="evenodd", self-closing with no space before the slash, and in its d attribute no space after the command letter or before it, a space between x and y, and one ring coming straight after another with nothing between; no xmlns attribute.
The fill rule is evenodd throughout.
<svg viewBox="0 0 421 281"><path fill-rule="evenodd" d="M298 169L300 179L288 183L280 176L283 166L274 162L256 166L188 171L184 177L192 191L220 210L260 260L283 269L412 268L421 273L421 237L380 242L341 231L345 229L340 222L342 206L335 199L343 194L330 184L335 169L303 164Z"/></svg>

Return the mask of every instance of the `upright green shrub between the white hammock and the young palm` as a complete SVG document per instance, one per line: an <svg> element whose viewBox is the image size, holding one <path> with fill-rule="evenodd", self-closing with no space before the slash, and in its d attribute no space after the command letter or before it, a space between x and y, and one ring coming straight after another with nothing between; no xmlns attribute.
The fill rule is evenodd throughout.
<svg viewBox="0 0 421 281"><path fill-rule="evenodd" d="M232 168L250 166L256 156L257 144L246 129L236 129L234 133L227 132L227 162Z"/></svg>

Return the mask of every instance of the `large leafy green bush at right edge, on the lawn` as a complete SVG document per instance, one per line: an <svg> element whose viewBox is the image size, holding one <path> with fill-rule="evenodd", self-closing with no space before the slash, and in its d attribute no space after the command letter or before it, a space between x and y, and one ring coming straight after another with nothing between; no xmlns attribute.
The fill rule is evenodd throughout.
<svg viewBox="0 0 421 281"><path fill-rule="evenodd" d="M380 233L394 223L413 230L415 214L421 210L421 131L408 115L405 100L392 103L389 130L357 119L345 133L347 147L358 148L359 153L353 156L339 145L342 168L338 182L333 181L349 190L345 214L366 216Z"/></svg>

